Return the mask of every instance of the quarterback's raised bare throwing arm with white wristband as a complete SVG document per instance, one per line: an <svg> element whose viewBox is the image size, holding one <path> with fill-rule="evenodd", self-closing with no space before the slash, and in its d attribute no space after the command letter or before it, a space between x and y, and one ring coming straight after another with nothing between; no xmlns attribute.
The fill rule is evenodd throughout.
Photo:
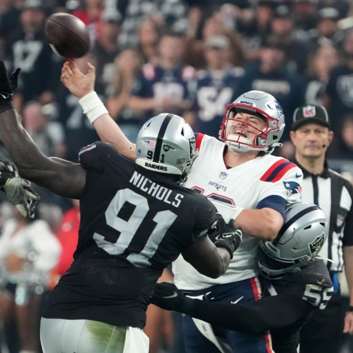
<svg viewBox="0 0 353 353"><path fill-rule="evenodd" d="M87 74L83 74L74 61L66 61L61 70L61 82L79 99L83 112L93 124L103 142L114 146L123 156L136 160L136 145L131 143L120 127L108 114L108 110L94 91L95 67L88 65Z"/></svg>

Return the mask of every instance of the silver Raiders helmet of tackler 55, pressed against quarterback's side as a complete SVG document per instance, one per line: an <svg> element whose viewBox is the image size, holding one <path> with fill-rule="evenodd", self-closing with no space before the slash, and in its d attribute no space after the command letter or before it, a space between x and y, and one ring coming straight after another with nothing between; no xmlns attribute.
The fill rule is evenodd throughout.
<svg viewBox="0 0 353 353"><path fill-rule="evenodd" d="M321 208L309 202L289 205L277 238L260 241L260 273L278 279L299 271L317 256L328 231L329 221Z"/></svg>

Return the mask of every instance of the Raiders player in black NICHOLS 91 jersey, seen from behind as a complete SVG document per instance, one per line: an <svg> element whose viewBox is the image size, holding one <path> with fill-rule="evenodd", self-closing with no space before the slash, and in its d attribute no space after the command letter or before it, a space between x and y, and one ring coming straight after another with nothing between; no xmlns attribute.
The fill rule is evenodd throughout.
<svg viewBox="0 0 353 353"><path fill-rule="evenodd" d="M42 313L43 352L148 352L145 311L163 269L182 253L203 275L219 277L241 232L227 228L206 197L178 185L197 156L183 118L161 114L146 122L136 163L103 142L83 148L80 163L48 158L12 106L18 72L9 79L0 61L2 141L20 175L80 200L74 261Z"/></svg>

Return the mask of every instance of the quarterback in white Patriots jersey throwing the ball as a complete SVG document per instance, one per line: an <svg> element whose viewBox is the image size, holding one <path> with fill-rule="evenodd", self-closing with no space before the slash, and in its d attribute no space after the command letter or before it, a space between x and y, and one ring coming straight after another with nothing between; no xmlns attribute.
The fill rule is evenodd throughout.
<svg viewBox="0 0 353 353"><path fill-rule="evenodd" d="M86 75L74 62L64 64L61 80L80 99L101 139L135 159L135 145L110 118L94 92L94 79L90 64ZM187 295L241 304L251 304L262 297L256 264L258 239L275 239L283 225L286 205L300 199L303 178L294 163L270 156L280 145L284 126L282 108L276 99L266 92L250 91L228 105L220 131L223 142L197 135L199 156L185 186L215 200L223 217L234 219L234 226L241 227L244 235L229 269L219 280L203 277L182 259L175 262L175 283ZM169 149L166 147L165 151L168 153ZM223 329L213 332L188 316L183 321L187 353L227 349L237 353L273 352L269 333L240 334Z"/></svg>

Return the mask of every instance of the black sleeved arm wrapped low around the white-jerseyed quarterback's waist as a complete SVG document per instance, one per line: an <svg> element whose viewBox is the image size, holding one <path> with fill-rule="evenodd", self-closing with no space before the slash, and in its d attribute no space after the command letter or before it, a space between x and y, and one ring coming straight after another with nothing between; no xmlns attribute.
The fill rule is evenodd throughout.
<svg viewBox="0 0 353 353"><path fill-rule="evenodd" d="M252 306L185 299L183 313L221 328L251 334L286 327L312 310L310 304L288 294L265 297Z"/></svg>

